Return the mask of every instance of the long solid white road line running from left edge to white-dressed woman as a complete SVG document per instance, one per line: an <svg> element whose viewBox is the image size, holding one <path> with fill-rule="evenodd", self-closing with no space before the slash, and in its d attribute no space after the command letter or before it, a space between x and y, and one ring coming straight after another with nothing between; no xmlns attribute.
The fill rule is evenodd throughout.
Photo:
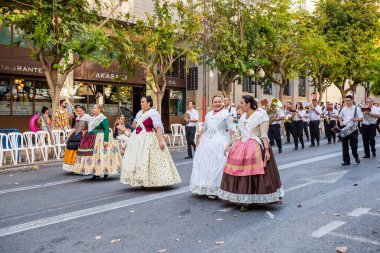
<svg viewBox="0 0 380 253"><path fill-rule="evenodd" d="M147 196L119 201L112 204L83 209L83 210L79 210L75 212L70 212L70 213L66 213L62 215L49 217L46 219L34 220L34 221L23 223L23 224L2 228L0 229L0 237L16 234L19 232L23 232L23 231L27 231L27 230L31 230L35 228L45 227L48 225L53 225L53 224L57 224L57 223L61 223L61 222L65 222L65 221L69 221L73 219L78 219L78 218L89 216L89 215L94 215L94 214L103 213L103 212L107 212L107 211L111 211L115 209L120 209L123 207L128 207L128 206L141 204L141 203L145 203L145 202L149 202L153 200L158 200L158 199L182 194L188 191L189 191L189 187L186 186L186 187L178 188L171 191L150 194Z"/></svg>

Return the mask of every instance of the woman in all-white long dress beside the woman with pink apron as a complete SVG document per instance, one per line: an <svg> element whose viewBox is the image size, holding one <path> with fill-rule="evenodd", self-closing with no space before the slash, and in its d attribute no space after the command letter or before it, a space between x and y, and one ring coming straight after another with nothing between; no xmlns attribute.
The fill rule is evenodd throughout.
<svg viewBox="0 0 380 253"><path fill-rule="evenodd" d="M214 96L213 110L206 115L205 124L197 141L191 173L190 190L198 195L215 199L223 176L224 148L235 134L232 116L223 110L223 99ZM200 140L200 141L199 141Z"/></svg>

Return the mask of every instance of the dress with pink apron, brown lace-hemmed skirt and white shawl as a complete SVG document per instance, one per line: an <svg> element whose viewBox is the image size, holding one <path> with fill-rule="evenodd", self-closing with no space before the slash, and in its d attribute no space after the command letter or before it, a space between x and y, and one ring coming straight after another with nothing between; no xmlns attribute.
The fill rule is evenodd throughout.
<svg viewBox="0 0 380 253"><path fill-rule="evenodd" d="M241 116L238 138L224 167L219 198L242 205L281 202L284 190L270 148L270 160L264 162L261 138L268 138L268 128L269 118L264 110L258 109L250 117L246 113Z"/></svg>

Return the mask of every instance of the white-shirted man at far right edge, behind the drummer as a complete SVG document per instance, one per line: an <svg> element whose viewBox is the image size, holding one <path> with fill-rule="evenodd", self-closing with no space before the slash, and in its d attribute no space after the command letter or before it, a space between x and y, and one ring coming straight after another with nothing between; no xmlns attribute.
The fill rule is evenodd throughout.
<svg viewBox="0 0 380 253"><path fill-rule="evenodd" d="M380 109L373 106L372 98L367 98L366 105L367 108L370 108L370 111L363 112L362 138L365 153L363 158L370 158L370 146L372 157L376 157L375 136L377 120L380 118Z"/></svg>

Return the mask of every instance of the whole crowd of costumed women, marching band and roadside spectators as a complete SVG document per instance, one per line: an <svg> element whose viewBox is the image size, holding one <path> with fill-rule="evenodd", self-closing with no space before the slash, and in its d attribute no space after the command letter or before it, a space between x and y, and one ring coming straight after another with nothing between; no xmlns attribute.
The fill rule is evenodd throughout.
<svg viewBox="0 0 380 253"><path fill-rule="evenodd" d="M187 105L185 159L194 158L190 190L210 199L234 203L241 211L251 205L282 203L284 190L272 151L276 144L278 152L282 152L282 138L290 143L293 137L295 150L299 144L301 149L305 148L304 136L310 139L310 147L318 147L323 126L328 144L341 141L345 166L350 165L350 147L355 162L360 163L357 149L361 132L363 158L376 156L380 109L371 98L365 106L359 106L347 95L344 105L336 108L332 103L320 105L315 99L310 104L297 102L293 107L290 102L282 106L278 99L269 104L243 96L235 108L230 98L216 95L196 142L199 113L194 101ZM120 182L132 187L180 183L152 98L144 96L140 106L133 123L126 122L124 116L116 120L113 134L99 104L93 106L92 116L82 105L75 106L69 114L67 102L62 100L54 122L48 116L48 109L42 108L40 123L46 130L49 127L72 129L63 159L66 171L92 175L91 180L120 175ZM125 148L123 155L120 146Z"/></svg>

